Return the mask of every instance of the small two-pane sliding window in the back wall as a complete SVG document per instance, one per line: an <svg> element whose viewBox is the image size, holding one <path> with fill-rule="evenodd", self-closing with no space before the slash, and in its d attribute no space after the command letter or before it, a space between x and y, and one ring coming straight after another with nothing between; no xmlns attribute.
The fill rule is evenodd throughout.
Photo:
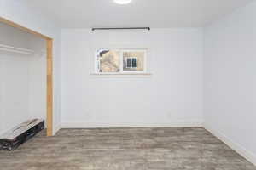
<svg viewBox="0 0 256 170"><path fill-rule="evenodd" d="M97 49L96 73L145 72L146 52L142 49Z"/></svg>

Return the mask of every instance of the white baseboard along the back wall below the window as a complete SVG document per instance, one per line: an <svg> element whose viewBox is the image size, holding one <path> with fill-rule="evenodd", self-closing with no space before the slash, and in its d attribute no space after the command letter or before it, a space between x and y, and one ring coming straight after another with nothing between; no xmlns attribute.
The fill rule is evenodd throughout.
<svg viewBox="0 0 256 170"><path fill-rule="evenodd" d="M202 121L180 122L61 122L61 128L97 128L97 127L202 127Z"/></svg>

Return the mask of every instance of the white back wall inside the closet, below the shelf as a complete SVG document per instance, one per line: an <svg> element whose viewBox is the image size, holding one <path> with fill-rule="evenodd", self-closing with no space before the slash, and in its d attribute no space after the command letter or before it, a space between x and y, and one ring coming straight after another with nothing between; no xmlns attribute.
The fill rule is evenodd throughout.
<svg viewBox="0 0 256 170"><path fill-rule="evenodd" d="M0 52L0 76L1 135L30 116L28 58Z"/></svg>

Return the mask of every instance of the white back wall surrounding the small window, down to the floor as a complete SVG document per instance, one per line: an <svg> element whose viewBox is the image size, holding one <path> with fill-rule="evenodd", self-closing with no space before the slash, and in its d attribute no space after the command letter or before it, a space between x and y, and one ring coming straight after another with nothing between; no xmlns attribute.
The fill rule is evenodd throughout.
<svg viewBox="0 0 256 170"><path fill-rule="evenodd" d="M200 126L202 30L62 30L62 127ZM148 48L151 76L93 76L94 48Z"/></svg>

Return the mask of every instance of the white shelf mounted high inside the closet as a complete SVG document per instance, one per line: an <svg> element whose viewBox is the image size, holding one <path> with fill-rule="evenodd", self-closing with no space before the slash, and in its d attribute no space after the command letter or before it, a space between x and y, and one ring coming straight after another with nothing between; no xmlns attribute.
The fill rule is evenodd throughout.
<svg viewBox="0 0 256 170"><path fill-rule="evenodd" d="M31 54L31 55L38 55L38 56L45 55L45 53L37 53L36 51L34 51L32 49L16 48L16 47L1 44L1 43L0 43L0 50L6 51L6 52L12 52L12 53L16 53L16 54Z"/></svg>

